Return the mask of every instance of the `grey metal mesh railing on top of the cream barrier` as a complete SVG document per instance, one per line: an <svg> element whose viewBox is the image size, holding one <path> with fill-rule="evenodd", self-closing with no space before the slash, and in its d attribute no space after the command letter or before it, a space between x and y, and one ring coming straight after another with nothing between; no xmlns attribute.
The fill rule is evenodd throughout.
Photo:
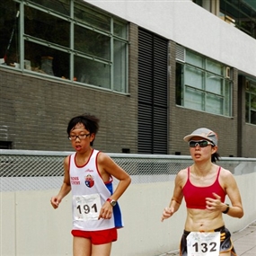
<svg viewBox="0 0 256 256"><path fill-rule="evenodd" d="M68 154L73 152L0 149L0 191L59 188ZM181 169L193 163L189 155L109 155L132 176L133 183L172 181ZM255 158L223 157L217 164L234 175L256 172Z"/></svg>

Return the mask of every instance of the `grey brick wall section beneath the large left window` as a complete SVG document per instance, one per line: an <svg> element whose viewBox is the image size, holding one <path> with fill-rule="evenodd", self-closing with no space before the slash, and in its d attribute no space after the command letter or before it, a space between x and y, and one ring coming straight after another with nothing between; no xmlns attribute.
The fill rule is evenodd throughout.
<svg viewBox="0 0 256 256"><path fill-rule="evenodd" d="M95 148L112 153L129 148L136 153L134 93L109 93L4 68L0 69L0 83L0 141L12 141L13 149L72 150L67 122L90 112L101 120Z"/></svg>

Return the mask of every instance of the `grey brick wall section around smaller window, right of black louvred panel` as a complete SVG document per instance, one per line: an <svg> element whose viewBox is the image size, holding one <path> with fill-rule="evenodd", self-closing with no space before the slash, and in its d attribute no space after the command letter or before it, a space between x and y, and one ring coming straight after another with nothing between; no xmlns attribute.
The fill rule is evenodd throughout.
<svg viewBox="0 0 256 256"><path fill-rule="evenodd" d="M210 128L219 137L218 153L221 156L237 156L237 72L234 71L233 117L189 110L175 103L175 43L170 42L170 134L169 154L190 154L183 137L197 128ZM255 148L256 149L256 148Z"/></svg>

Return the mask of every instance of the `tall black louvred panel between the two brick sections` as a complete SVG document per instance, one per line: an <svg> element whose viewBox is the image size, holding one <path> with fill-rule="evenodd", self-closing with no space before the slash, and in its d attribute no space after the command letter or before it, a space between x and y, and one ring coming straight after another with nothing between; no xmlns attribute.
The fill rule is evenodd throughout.
<svg viewBox="0 0 256 256"><path fill-rule="evenodd" d="M139 154L167 154L167 44L138 31Z"/></svg>

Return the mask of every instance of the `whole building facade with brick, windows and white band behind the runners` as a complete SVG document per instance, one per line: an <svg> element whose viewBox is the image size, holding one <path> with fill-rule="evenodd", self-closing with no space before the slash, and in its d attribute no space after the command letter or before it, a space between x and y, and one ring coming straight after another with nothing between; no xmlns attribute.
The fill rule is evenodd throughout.
<svg viewBox="0 0 256 256"><path fill-rule="evenodd" d="M71 150L67 122L89 112L105 152L189 154L206 127L222 156L255 157L249 2L2 1L0 147Z"/></svg>

